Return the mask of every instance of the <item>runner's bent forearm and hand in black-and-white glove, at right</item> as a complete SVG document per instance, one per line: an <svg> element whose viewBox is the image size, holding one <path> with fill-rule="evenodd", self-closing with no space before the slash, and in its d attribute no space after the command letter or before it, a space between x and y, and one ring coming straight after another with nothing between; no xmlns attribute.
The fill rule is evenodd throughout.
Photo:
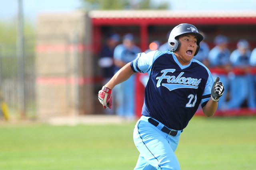
<svg viewBox="0 0 256 170"><path fill-rule="evenodd" d="M211 117L214 115L218 107L218 100L222 96L223 92L224 92L224 86L222 82L220 82L220 77L217 77L214 81L214 84L212 85L211 99L202 108L204 114L207 117Z"/></svg>

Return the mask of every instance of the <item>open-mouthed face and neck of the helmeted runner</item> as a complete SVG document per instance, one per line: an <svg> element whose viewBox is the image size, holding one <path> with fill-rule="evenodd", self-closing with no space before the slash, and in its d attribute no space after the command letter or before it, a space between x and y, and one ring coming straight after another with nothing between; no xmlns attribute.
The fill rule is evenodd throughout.
<svg viewBox="0 0 256 170"><path fill-rule="evenodd" d="M184 34L178 40L180 41L180 48L174 51L174 53L180 64L188 65L196 53L196 36L193 34Z"/></svg>

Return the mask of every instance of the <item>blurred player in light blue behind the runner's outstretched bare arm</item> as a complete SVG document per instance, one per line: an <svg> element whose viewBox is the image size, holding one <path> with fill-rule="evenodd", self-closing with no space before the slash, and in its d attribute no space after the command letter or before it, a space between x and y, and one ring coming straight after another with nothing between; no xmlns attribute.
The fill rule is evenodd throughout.
<svg viewBox="0 0 256 170"><path fill-rule="evenodd" d="M116 46L114 49L114 64L116 65L117 70L134 60L136 54L140 52L140 48L134 45L134 36L131 33L124 35L123 43ZM134 81L135 76L131 76L126 82L118 84L115 88L117 103L116 114L128 120L133 120L135 118L133 100Z"/></svg>

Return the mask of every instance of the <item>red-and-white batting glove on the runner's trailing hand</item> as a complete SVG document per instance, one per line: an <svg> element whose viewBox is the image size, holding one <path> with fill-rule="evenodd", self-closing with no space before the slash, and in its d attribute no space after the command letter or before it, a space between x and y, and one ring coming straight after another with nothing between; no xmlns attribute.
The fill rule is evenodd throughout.
<svg viewBox="0 0 256 170"><path fill-rule="evenodd" d="M107 88L105 86L102 87L102 89L99 91L98 99L100 100L100 103L103 105L103 107L106 108L112 108L112 96L111 96L111 89Z"/></svg>

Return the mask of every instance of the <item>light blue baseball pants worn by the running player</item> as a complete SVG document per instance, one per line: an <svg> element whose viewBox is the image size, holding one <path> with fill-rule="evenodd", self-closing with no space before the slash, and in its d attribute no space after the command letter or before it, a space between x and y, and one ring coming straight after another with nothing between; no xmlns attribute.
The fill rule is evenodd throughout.
<svg viewBox="0 0 256 170"><path fill-rule="evenodd" d="M164 127L159 123L157 127L148 122L146 116L140 117L137 121L133 139L140 152L134 170L180 170L180 164L174 151L176 150L180 133L170 136L160 129Z"/></svg>

